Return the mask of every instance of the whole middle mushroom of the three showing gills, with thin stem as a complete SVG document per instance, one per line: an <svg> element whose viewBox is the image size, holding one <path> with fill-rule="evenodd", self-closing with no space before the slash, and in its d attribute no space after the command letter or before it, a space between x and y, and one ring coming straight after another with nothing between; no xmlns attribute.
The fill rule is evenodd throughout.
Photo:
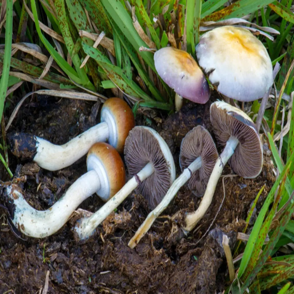
<svg viewBox="0 0 294 294"><path fill-rule="evenodd" d="M173 182L161 203L151 211L140 228L136 231L128 246L134 248L148 232L154 220L171 202L178 190L188 180L188 187L196 195L202 195L213 167L218 158L216 145L210 133L202 126L196 126L183 138L180 151L180 167L182 174Z"/></svg>

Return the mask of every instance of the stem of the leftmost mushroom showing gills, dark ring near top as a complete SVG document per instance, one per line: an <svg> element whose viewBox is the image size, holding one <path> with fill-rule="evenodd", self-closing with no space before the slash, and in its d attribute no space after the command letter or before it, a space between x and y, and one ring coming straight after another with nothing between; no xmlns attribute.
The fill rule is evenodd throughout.
<svg viewBox="0 0 294 294"><path fill-rule="evenodd" d="M154 168L151 162L147 163L141 171L133 176L111 199L109 199L98 211L90 217L82 218L74 227L78 238L85 240L90 237L96 227L117 208L124 199L146 178L152 175Z"/></svg>

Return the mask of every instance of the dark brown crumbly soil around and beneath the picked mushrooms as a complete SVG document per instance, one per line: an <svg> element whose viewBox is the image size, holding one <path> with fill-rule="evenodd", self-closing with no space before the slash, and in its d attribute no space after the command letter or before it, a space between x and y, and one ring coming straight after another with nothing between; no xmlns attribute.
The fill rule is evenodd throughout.
<svg viewBox="0 0 294 294"><path fill-rule="evenodd" d="M138 111L137 125L151 124L168 143L177 174L185 134L198 124L212 131L209 106L188 103L168 118L153 110ZM99 103L37 96L21 107L9 132L31 133L63 144L99 121L99 107ZM11 153L9 159L26 200L39 210L56 202L86 172L85 157L56 172L21 161ZM187 236L180 229L183 215L197 208L201 198L184 186L135 249L127 246L128 241L149 213L146 201L136 193L84 243L76 242L71 231L78 213L58 233L34 239L17 237L8 225L6 210L0 208L0 293L41 293L47 271L47 293L219 293L228 285L222 235L230 237L233 248L258 191L265 185L257 210L273 185L272 168L268 154L255 179L233 176L230 167L225 167L210 209ZM2 165L0 176L2 181L9 180ZM93 196L80 208L96 211L102 204Z"/></svg>

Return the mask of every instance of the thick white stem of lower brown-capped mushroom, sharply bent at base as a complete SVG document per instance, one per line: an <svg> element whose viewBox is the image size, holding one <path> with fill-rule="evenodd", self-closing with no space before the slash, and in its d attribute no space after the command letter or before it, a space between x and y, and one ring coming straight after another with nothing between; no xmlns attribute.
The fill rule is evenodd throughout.
<svg viewBox="0 0 294 294"><path fill-rule="evenodd" d="M100 187L96 171L88 171L78 178L53 206L45 211L34 209L26 202L16 185L9 186L7 194L15 206L12 222L27 236L44 238L56 233L74 210Z"/></svg>

